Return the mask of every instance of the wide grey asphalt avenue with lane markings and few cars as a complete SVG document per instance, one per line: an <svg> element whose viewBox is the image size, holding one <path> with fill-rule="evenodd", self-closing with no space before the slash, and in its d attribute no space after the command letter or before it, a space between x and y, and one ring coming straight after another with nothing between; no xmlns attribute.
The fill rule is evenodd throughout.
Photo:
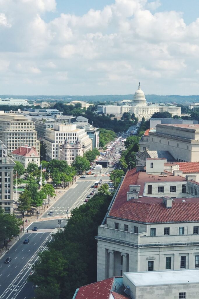
<svg viewBox="0 0 199 299"><path fill-rule="evenodd" d="M99 179L103 182L109 181L105 172L110 171L112 168L103 168L101 173L95 173L96 176L78 179L60 199L52 199L50 209L44 212L38 221L32 223L28 227L28 233L0 259L0 299L33 298L35 286L27 282L27 277L32 273L31 266L38 260L38 253L46 249L47 242L52 238L52 231L67 224L67 219L64 219L67 209L70 213L73 208L86 204L84 200L90 194L93 183ZM53 216L48 215L49 211L53 211ZM34 226L38 227L37 231L32 231ZM23 244L26 238L30 239L29 244ZM12 258L10 264L4 263L7 257Z"/></svg>

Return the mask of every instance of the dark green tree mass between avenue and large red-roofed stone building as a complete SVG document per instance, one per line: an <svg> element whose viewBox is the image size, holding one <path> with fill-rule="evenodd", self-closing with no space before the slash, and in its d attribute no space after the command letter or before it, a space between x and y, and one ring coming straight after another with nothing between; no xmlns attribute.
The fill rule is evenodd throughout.
<svg viewBox="0 0 199 299"><path fill-rule="evenodd" d="M64 231L53 235L49 250L40 254L40 263L33 267L35 271L30 275L30 280L38 285L37 299L69 299L76 288L96 281L97 244L93 240L111 198L93 196L86 205L72 210ZM53 295L49 294L50 286Z"/></svg>

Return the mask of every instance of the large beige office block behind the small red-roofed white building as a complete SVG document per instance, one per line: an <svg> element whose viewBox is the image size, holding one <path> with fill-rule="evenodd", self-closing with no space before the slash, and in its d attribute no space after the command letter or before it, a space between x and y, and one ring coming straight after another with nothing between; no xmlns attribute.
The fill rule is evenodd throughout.
<svg viewBox="0 0 199 299"><path fill-rule="evenodd" d="M39 155L39 141L34 123L24 115L0 114L0 140L7 147L10 154L20 146L30 146Z"/></svg>

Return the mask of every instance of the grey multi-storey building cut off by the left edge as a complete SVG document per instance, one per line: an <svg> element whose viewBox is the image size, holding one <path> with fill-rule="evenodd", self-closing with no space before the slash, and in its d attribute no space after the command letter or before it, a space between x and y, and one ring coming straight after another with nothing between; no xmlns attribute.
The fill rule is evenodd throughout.
<svg viewBox="0 0 199 299"><path fill-rule="evenodd" d="M5 213L13 213L14 161L7 157L7 147L0 141L0 207Z"/></svg>

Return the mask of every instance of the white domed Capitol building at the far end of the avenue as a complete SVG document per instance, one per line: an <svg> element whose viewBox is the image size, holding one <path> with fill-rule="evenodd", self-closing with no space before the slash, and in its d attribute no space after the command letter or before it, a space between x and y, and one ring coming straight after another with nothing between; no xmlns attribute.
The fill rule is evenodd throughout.
<svg viewBox="0 0 199 299"><path fill-rule="evenodd" d="M117 104L121 105L98 105L98 113L104 114L113 114L115 116L122 116L124 112L129 112L130 114L134 113L135 117L138 118L139 121L144 117L145 120L148 120L152 117L155 112L169 112L172 116L181 115L181 107L176 106L160 106L156 105L148 105L146 103L146 98L144 95L144 91L141 90L141 86L139 83L138 90L135 91L133 100L122 100Z"/></svg>

